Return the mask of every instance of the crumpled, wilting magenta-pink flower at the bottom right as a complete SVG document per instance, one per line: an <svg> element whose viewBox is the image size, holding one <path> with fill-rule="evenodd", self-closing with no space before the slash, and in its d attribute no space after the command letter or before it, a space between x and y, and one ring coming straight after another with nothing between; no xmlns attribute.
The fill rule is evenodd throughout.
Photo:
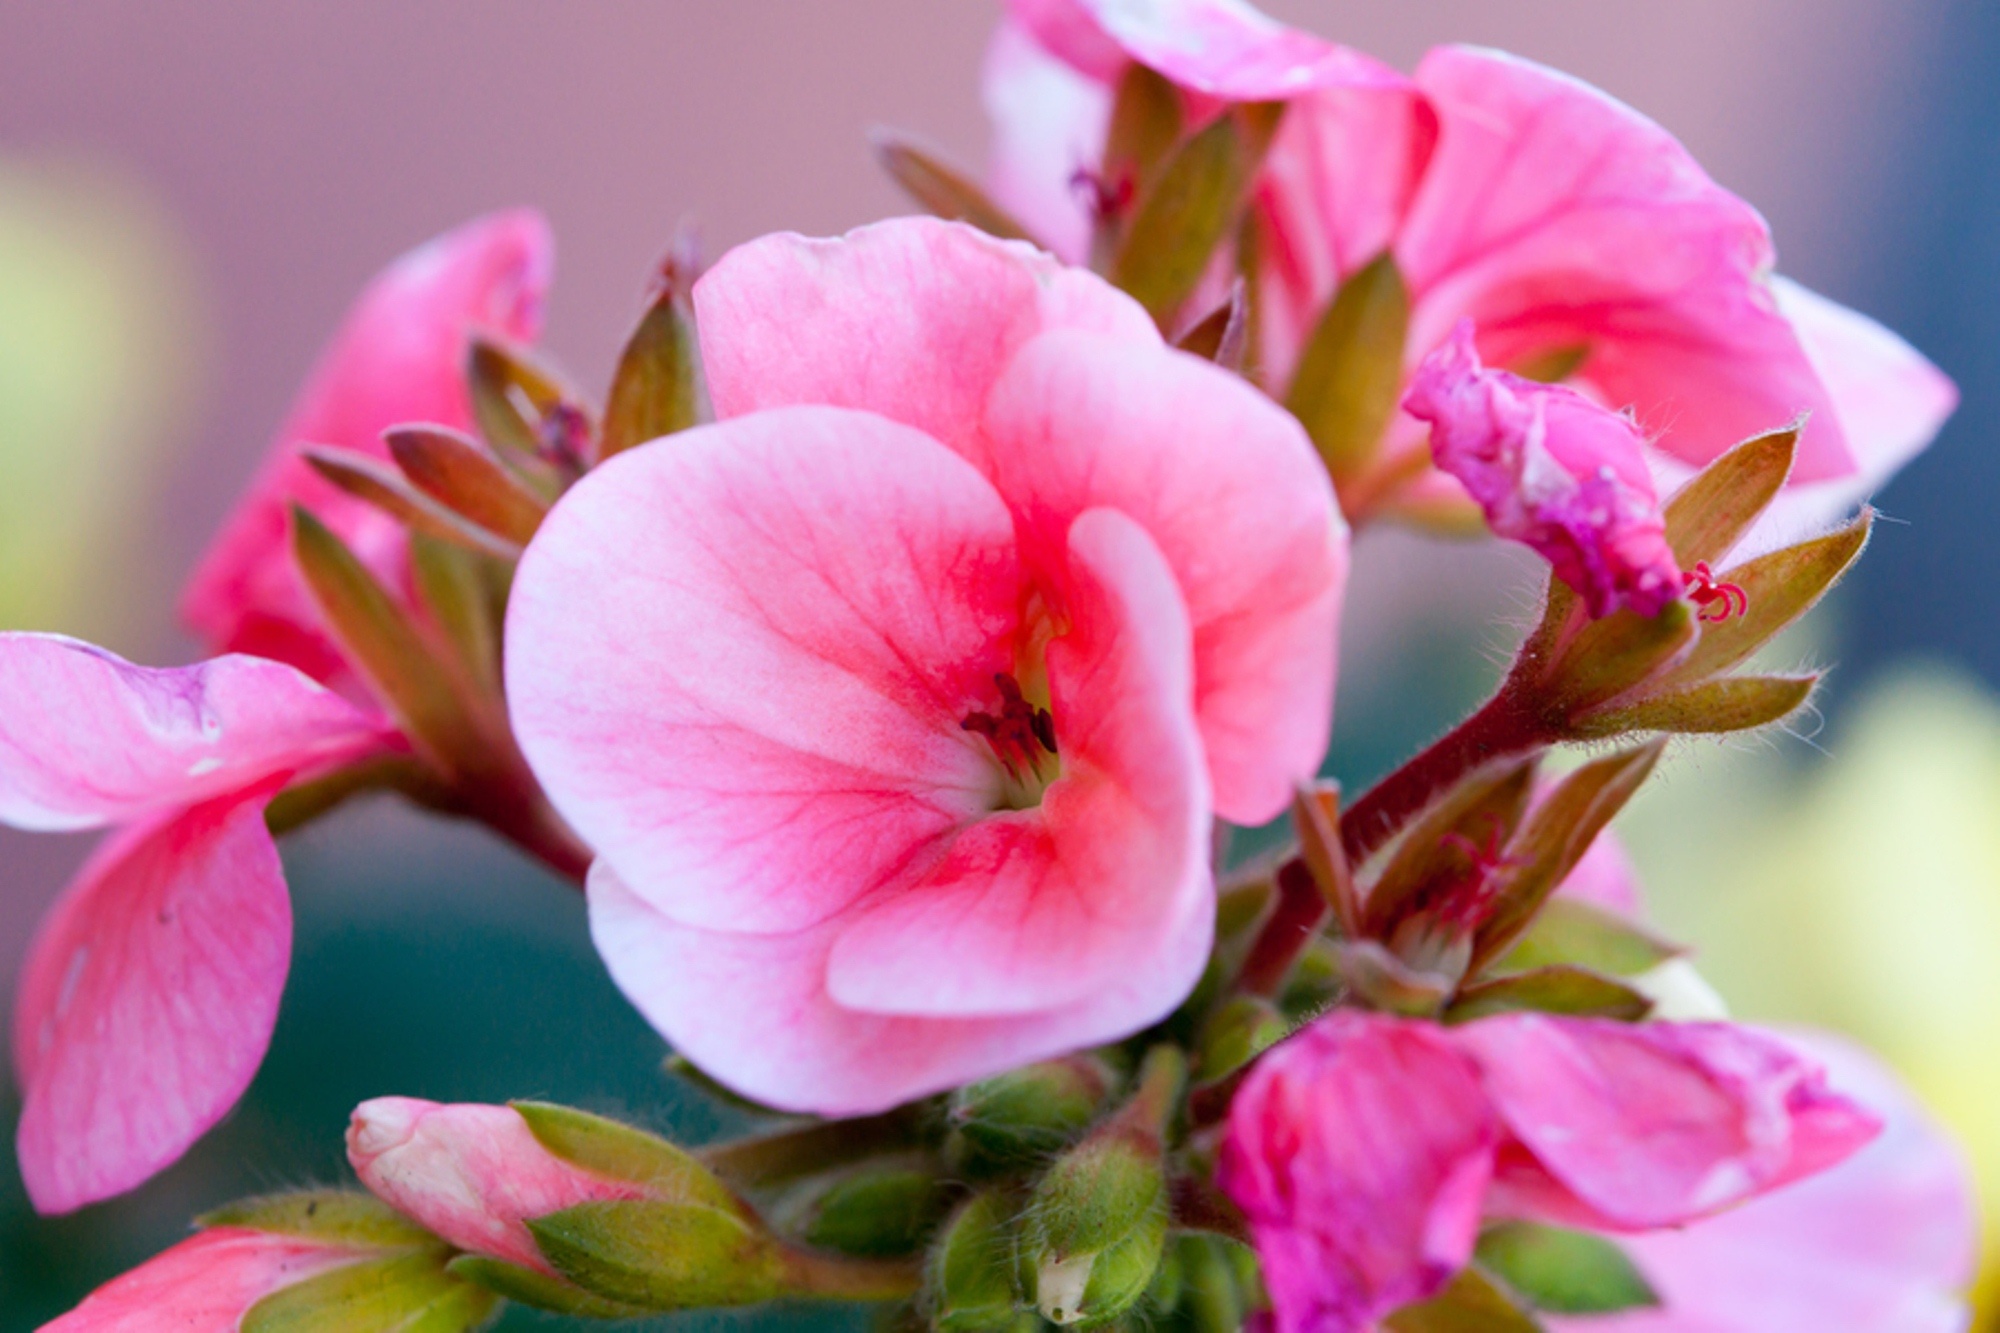
<svg viewBox="0 0 2000 1333"><path fill-rule="evenodd" d="M1814 1063L1740 1027L1336 1011L1256 1065L1218 1181L1280 1333L1342 1333L1442 1289L1484 1215L1670 1227L1824 1171L1876 1129Z"/></svg>

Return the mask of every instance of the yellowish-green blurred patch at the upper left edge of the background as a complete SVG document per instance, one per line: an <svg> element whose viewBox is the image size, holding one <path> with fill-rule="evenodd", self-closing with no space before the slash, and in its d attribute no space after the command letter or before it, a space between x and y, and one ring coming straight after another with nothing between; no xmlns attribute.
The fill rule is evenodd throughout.
<svg viewBox="0 0 2000 1333"><path fill-rule="evenodd" d="M208 326L180 232L128 178L0 160L0 628L116 638Z"/></svg>

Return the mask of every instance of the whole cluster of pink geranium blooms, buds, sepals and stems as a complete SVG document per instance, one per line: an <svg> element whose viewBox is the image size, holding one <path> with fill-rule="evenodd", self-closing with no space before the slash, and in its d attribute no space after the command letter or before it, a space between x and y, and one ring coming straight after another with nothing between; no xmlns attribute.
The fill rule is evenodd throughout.
<svg viewBox="0 0 2000 1333"><path fill-rule="evenodd" d="M220 656L0 636L0 819L116 829L16 1005L38 1209L242 1095L274 833L380 789L578 881L690 1077L830 1119L690 1155L372 1101L372 1195L224 1209L50 1327L1958 1327L1952 1151L1868 1057L1720 1021L1600 837L1660 733L1806 701L1736 669L1950 382L1504 54L1012 0L986 76L990 192L884 140L942 218L670 262L602 410L528 350L538 218L416 250L194 578ZM1386 516L1552 578L1492 703L1344 805Z"/></svg>

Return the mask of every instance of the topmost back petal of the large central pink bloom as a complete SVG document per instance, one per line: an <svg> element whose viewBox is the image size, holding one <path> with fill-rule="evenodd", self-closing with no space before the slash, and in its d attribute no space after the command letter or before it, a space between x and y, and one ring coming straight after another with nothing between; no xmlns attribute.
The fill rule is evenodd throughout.
<svg viewBox="0 0 2000 1333"><path fill-rule="evenodd" d="M866 408L982 470L986 396L1032 336L1086 328L1160 344L1138 302L1102 278L936 218L878 222L838 240L752 240L694 286L694 308L718 416Z"/></svg>

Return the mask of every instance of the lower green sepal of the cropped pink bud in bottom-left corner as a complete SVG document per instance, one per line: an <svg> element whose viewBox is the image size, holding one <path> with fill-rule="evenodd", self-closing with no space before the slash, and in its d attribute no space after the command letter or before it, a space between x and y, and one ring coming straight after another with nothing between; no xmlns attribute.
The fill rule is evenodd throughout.
<svg viewBox="0 0 2000 1333"><path fill-rule="evenodd" d="M350 1263L252 1305L240 1333L468 1333L500 1297L460 1281L438 1251Z"/></svg>

